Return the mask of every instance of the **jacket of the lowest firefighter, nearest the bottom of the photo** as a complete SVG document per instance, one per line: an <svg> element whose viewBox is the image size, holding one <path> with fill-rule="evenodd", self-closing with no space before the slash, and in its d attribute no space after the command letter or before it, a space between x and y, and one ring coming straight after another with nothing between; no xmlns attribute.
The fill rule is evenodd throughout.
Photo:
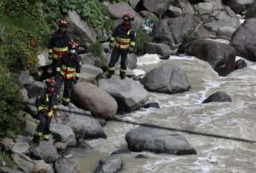
<svg viewBox="0 0 256 173"><path fill-rule="evenodd" d="M55 93L49 95L47 94L47 89L43 89L37 97L36 107L38 112L45 110L48 116L52 117L53 110L57 108L57 95Z"/></svg>

